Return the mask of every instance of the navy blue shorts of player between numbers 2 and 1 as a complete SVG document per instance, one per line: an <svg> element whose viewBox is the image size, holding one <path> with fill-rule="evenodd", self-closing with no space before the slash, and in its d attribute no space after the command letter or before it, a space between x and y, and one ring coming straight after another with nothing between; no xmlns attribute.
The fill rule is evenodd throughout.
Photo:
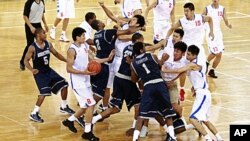
<svg viewBox="0 0 250 141"><path fill-rule="evenodd" d="M123 101L125 100L128 111L135 104L139 104L141 93L131 80L126 80L115 76L113 83L112 99L110 105L122 109Z"/></svg>

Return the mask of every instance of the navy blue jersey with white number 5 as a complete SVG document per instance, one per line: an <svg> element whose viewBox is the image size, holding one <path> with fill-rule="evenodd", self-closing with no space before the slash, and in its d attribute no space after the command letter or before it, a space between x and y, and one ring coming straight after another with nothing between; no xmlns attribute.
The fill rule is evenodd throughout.
<svg viewBox="0 0 250 141"><path fill-rule="evenodd" d="M43 49L37 46L36 42L32 44L35 47L35 53L33 56L33 68L38 69L41 72L50 70L49 59L50 59L50 44L44 42L45 46Z"/></svg>

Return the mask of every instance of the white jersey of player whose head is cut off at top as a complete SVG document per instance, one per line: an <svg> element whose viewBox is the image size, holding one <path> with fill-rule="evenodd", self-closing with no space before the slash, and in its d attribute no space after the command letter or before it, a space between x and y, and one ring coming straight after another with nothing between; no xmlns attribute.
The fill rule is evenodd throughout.
<svg viewBox="0 0 250 141"><path fill-rule="evenodd" d="M153 9L154 21L169 21L174 5L174 0L157 0L157 5Z"/></svg>

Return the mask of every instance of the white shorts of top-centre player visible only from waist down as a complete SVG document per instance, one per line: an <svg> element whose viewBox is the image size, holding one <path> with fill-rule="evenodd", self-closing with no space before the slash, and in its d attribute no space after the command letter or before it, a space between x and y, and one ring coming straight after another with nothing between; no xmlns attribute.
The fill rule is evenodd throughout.
<svg viewBox="0 0 250 141"><path fill-rule="evenodd" d="M132 18L137 9L142 9L140 0L123 0L121 12L124 18Z"/></svg>

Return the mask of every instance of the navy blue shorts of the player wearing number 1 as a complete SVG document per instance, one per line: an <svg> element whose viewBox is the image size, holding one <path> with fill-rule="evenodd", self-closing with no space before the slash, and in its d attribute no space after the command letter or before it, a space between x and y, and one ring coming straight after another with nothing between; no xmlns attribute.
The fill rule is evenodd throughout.
<svg viewBox="0 0 250 141"><path fill-rule="evenodd" d="M173 111L168 89L164 82L144 86L139 107L139 116L154 118L156 114L158 114L158 111L160 111L160 114L164 118L176 115Z"/></svg>

